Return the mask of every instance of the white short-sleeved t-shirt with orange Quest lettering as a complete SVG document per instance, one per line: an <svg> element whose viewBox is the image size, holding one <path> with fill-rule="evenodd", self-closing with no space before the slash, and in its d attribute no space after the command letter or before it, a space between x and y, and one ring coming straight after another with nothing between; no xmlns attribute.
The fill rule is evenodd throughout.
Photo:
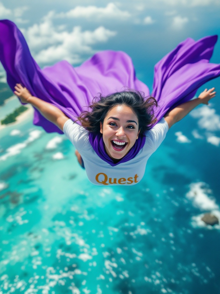
<svg viewBox="0 0 220 294"><path fill-rule="evenodd" d="M135 185L140 182L148 158L160 146L167 131L168 124L162 118L145 133L145 144L134 158L111 166L96 154L89 142L89 132L85 128L71 119L66 121L63 127L63 132L82 156L89 181L99 186Z"/></svg>

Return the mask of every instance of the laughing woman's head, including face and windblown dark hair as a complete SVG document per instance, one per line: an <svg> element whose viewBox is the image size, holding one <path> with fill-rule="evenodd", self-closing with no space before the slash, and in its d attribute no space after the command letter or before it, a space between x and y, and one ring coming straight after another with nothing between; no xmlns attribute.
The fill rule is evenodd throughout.
<svg viewBox="0 0 220 294"><path fill-rule="evenodd" d="M102 134L104 148L114 163L119 162L134 146L139 133L150 130L157 101L138 91L122 91L97 98L78 120L87 131Z"/></svg>

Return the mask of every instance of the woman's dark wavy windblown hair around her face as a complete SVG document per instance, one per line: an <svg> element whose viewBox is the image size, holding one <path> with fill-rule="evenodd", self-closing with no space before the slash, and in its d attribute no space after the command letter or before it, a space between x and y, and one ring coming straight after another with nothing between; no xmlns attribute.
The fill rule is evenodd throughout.
<svg viewBox="0 0 220 294"><path fill-rule="evenodd" d="M106 97L95 97L88 106L91 111L82 111L78 120L82 126L92 133L100 132L100 122L103 124L107 113L117 105L126 105L136 114L140 133L149 130L157 121L154 118L154 108L158 106L153 97L145 97L143 92L127 90L110 94Z"/></svg>

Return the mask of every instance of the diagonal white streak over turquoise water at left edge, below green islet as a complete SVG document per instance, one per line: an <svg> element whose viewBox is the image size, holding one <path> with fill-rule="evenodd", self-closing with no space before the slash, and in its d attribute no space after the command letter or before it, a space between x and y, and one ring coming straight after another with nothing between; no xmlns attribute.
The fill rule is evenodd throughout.
<svg viewBox="0 0 220 294"><path fill-rule="evenodd" d="M25 141L23 141L23 143L15 144L6 149L6 154L0 156L0 160L6 160L8 157L21 153L21 150L25 148L28 145L28 143L31 143L34 140L38 139L40 137L40 134L41 131L39 130L31 131L29 133L29 137Z"/></svg>

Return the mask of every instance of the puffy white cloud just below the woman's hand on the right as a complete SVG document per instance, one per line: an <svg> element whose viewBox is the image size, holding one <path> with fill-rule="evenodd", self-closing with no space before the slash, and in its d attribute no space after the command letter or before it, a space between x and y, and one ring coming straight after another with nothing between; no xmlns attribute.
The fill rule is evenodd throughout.
<svg viewBox="0 0 220 294"><path fill-rule="evenodd" d="M191 111L190 115L194 118L199 118L198 125L200 128L207 131L220 130L220 116L215 113L215 109L204 105Z"/></svg>

